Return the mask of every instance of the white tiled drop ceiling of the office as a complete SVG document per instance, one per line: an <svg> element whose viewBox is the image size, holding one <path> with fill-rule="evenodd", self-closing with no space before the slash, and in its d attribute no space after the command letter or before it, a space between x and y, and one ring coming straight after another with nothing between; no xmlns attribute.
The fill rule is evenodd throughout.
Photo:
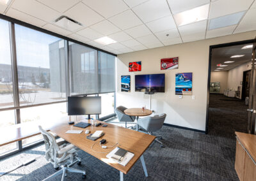
<svg viewBox="0 0 256 181"><path fill-rule="evenodd" d="M0 13L113 54L256 30L256 0L0 0ZM179 25L182 12L205 7L200 21ZM201 8L202 9L202 8ZM181 16L180 16L181 15ZM67 16L82 24L68 31ZM205 17L205 18L204 18ZM211 25L211 27L210 27ZM211 29L211 30L210 30ZM168 34L168 36L166 36ZM110 45L95 42L108 36Z"/></svg>

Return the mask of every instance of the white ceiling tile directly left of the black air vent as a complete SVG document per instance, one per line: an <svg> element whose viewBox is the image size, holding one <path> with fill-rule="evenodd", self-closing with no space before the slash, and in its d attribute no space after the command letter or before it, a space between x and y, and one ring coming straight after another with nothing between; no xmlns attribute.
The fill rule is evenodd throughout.
<svg viewBox="0 0 256 181"><path fill-rule="evenodd" d="M24 3L23 0L15 0L12 3L12 8L46 22L53 22L56 18L60 17L60 13L58 11L52 10L35 0L26 0L26 3Z"/></svg>

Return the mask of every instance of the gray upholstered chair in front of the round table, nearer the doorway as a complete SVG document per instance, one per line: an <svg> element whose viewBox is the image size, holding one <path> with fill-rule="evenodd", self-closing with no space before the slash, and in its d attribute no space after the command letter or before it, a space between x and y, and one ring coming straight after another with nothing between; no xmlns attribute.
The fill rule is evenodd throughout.
<svg viewBox="0 0 256 181"><path fill-rule="evenodd" d="M154 115L153 117L145 117L138 120L138 126L142 128L148 134L153 134L153 132L158 131L163 127L166 114ZM161 144L161 147L164 147L163 143L157 138L163 139L162 136L156 136L155 141Z"/></svg>

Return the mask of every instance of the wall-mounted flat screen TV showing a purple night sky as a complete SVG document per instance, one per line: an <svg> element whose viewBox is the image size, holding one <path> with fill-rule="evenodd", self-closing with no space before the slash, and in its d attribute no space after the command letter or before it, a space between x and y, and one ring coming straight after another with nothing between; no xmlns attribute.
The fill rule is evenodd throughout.
<svg viewBox="0 0 256 181"><path fill-rule="evenodd" d="M136 92L164 92L165 75L148 74L135 75Z"/></svg>

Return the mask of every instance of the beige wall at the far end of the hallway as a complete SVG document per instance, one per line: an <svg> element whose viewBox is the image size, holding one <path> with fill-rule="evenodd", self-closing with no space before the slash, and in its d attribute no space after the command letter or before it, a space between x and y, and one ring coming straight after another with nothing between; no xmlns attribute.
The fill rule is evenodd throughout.
<svg viewBox="0 0 256 181"><path fill-rule="evenodd" d="M228 71L211 71L211 82L220 82L220 94L224 94L228 86Z"/></svg>

